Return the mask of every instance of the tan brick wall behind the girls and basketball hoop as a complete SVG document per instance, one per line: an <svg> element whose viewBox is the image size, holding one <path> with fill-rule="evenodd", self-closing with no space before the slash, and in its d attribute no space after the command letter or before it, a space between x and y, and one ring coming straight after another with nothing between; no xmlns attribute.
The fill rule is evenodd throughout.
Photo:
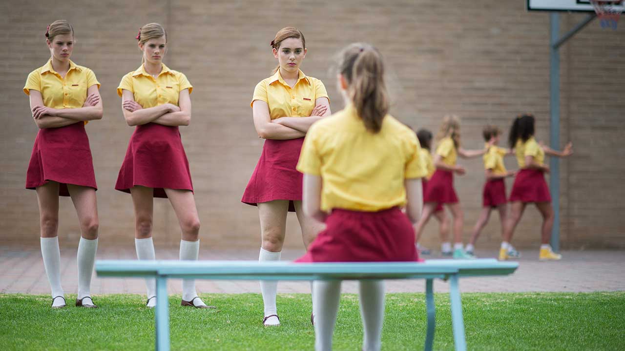
<svg viewBox="0 0 625 351"><path fill-rule="evenodd" d="M495 5L496 3L496 5ZM496 124L507 134L519 112L537 116L537 137L549 136L549 16L526 12L523 1L39 1L0 4L0 242L38 241L34 191L24 177L37 128L21 92L27 74L49 57L46 25L68 19L76 31L73 61L96 72L102 84L104 118L87 126L93 150L101 245L132 245L130 196L113 190L133 132L116 94L121 77L141 62L134 36L146 22L169 33L169 67L194 85L193 116L181 133L196 187L206 247L258 247L256 207L239 202L260 155L262 140L252 125L249 100L256 82L276 62L269 42L283 26L306 35L302 66L321 79L331 108L342 108L335 74L337 51L368 41L384 55L394 104L391 113L412 127L436 132L447 113L462 117L466 148L482 147L481 128ZM564 32L583 14L562 14ZM574 142L574 156L561 162L562 247L625 247L625 197L621 187L625 149L621 122L625 102L623 29L602 31L592 22L561 50L561 140ZM481 210L481 159L462 160L467 174L456 178L465 210L465 234ZM516 168L512 157L506 159ZM511 189L511 180L507 189ZM78 220L71 200L61 199L59 236L76 244ZM179 227L168 200L154 200L154 238L177 245ZM535 247L540 216L529 208L515 243ZM499 242L499 219L491 217L480 245ZM432 221L424 244L437 245ZM294 215L287 222L289 247L301 247Z"/></svg>

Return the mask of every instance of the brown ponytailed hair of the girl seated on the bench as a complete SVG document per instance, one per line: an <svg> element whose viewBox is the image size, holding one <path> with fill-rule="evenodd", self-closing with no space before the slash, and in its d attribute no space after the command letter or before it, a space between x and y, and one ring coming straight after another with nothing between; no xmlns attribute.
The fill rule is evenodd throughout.
<svg viewBox="0 0 625 351"><path fill-rule="evenodd" d="M341 54L339 72L349 85L349 97L368 131L377 133L389 111L384 84L384 63L379 51L370 44L354 43Z"/></svg>

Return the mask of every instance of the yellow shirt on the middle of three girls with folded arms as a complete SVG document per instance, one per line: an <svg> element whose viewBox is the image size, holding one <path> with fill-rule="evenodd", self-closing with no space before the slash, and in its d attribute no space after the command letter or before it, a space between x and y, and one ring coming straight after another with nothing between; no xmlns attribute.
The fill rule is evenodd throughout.
<svg viewBox="0 0 625 351"><path fill-rule="evenodd" d="M180 92L189 89L189 94L191 94L193 86L183 73L161 64L163 67L156 79L146 72L143 64L135 71L126 74L119 82L118 95L122 96L123 89L132 92L134 101L144 109L168 103L178 106Z"/></svg>

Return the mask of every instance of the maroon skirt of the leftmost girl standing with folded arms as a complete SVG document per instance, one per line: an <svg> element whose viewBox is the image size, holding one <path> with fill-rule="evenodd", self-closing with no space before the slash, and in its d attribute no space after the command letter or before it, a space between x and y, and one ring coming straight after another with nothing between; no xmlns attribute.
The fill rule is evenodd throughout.
<svg viewBox="0 0 625 351"><path fill-rule="evenodd" d="M61 196L69 196L67 184L98 190L83 122L37 132L26 171L26 189L36 189L50 181L60 184Z"/></svg>

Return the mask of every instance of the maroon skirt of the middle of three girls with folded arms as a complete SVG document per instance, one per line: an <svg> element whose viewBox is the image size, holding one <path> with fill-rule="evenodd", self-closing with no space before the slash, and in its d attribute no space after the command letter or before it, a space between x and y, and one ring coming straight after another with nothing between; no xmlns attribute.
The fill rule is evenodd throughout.
<svg viewBox="0 0 625 351"><path fill-rule="evenodd" d="M129 193L137 185L154 188L154 197L167 197L164 189L193 191L178 127L148 123L134 129L115 189Z"/></svg>

